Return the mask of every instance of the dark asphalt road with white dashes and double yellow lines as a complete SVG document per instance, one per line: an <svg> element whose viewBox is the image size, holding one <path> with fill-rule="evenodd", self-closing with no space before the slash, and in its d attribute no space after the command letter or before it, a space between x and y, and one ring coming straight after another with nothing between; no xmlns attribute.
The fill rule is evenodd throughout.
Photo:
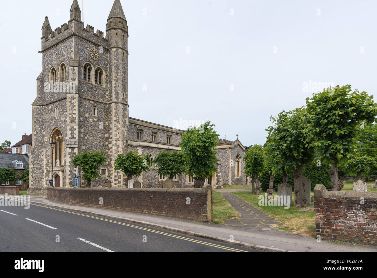
<svg viewBox="0 0 377 278"><path fill-rule="evenodd" d="M0 252L262 252L37 204L0 206L0 233Z"/></svg>

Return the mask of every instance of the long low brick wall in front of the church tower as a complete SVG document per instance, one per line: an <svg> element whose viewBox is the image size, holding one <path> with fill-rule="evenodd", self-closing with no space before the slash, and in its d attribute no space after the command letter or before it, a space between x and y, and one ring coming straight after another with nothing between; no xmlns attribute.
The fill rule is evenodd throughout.
<svg viewBox="0 0 377 278"><path fill-rule="evenodd" d="M47 187L47 198L71 205L212 221L212 187L208 184L203 188Z"/></svg>

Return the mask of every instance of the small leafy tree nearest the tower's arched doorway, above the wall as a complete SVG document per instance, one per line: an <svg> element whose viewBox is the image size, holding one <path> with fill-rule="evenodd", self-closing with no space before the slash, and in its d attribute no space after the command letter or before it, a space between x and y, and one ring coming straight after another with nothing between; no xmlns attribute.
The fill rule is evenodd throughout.
<svg viewBox="0 0 377 278"><path fill-rule="evenodd" d="M84 151L77 154L69 162L76 168L81 167L83 179L87 182L87 187L92 187L91 181L95 181L100 176L100 167L107 161L104 151Z"/></svg>

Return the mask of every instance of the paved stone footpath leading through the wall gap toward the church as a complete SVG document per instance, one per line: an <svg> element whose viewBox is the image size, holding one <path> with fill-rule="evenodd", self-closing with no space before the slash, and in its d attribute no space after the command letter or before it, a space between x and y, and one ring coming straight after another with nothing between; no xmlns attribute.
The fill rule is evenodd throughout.
<svg viewBox="0 0 377 278"><path fill-rule="evenodd" d="M225 225L242 226L253 228L271 228L271 224L280 224L268 214L261 212L257 208L249 205L244 200L236 197L232 193L222 193L225 199L241 214L238 219L225 221Z"/></svg>

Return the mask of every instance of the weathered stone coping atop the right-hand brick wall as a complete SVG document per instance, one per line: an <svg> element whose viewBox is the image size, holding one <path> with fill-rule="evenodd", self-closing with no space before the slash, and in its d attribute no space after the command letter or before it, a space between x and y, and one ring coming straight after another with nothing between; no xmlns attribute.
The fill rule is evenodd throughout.
<svg viewBox="0 0 377 278"><path fill-rule="evenodd" d="M328 191L323 184L314 187L314 198L377 200L377 192Z"/></svg>

